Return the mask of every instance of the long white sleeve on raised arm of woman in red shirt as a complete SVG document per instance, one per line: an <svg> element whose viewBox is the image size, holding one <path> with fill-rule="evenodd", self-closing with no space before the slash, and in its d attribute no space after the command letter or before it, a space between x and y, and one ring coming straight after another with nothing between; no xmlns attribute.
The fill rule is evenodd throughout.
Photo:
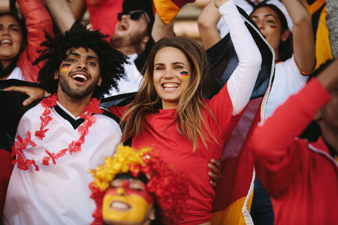
<svg viewBox="0 0 338 225"><path fill-rule="evenodd" d="M234 1L226 1L219 8L219 12L227 24L239 61L227 81L227 91L234 108L232 115L236 115L249 102L260 71L262 56Z"/></svg>

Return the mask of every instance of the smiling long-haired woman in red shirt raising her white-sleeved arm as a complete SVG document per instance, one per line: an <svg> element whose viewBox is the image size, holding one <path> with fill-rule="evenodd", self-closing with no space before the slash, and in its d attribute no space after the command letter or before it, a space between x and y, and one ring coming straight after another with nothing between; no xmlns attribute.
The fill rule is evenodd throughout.
<svg viewBox="0 0 338 225"><path fill-rule="evenodd" d="M239 64L212 99L203 98L209 66L203 48L185 38L162 39L146 62L137 96L128 106L109 108L124 123L122 141L153 147L188 177L191 198L181 224L210 224L214 189L207 163L220 158L254 88L261 56L232 0L214 1L234 43Z"/></svg>

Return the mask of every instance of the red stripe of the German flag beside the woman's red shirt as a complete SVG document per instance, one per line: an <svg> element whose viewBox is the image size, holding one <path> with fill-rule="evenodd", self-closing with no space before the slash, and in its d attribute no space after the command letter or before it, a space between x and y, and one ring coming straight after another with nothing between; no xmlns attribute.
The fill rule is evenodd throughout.
<svg viewBox="0 0 338 225"><path fill-rule="evenodd" d="M249 101L225 146L221 159L223 174L215 190L213 212L223 211L236 200L247 196L254 171L254 158L245 141L260 121L261 103L262 97Z"/></svg>

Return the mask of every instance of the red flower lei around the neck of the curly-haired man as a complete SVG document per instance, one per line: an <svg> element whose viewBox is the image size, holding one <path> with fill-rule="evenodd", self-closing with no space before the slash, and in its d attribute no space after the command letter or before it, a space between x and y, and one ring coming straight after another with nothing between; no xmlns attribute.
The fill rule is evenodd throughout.
<svg viewBox="0 0 338 225"><path fill-rule="evenodd" d="M37 137L40 140L43 140L45 137L46 132L49 129L45 129L50 121L52 121L52 117L49 117L50 108L52 106L56 106L56 95L49 95L49 97L46 97L43 99L40 103L43 107L45 107L45 110L43 111L42 115L40 116L41 120L41 126L40 130L36 130L34 133L35 137ZM52 163L56 165L56 160L62 156L65 156L66 152L68 151L70 154L73 152L80 152L81 151L81 145L84 143L85 139L84 137L88 134L88 129L95 123L96 118L93 117L93 113L100 113L102 114L103 110L100 108L100 100L93 98L91 99L91 102L86 106L86 108L83 109L84 113L80 115L82 119L84 119L84 122L80 127L78 127L78 132L80 132L80 138L76 141L72 141L69 143L68 147L64 150L60 150L56 153L49 152L48 150L45 150L45 153L47 156L43 157L43 165L49 165L49 160L52 159ZM31 140L31 132L27 131L25 139L22 139L20 135L16 136L16 141L14 142L14 145L12 146L12 157L15 155L16 159L12 161L12 164L15 165L17 163L18 168L22 170L29 169L30 166L34 165L35 170L39 171L38 165L36 165L34 158L32 159L25 159L23 157L23 150L27 148L27 145L30 144L32 147L35 147L36 144Z"/></svg>

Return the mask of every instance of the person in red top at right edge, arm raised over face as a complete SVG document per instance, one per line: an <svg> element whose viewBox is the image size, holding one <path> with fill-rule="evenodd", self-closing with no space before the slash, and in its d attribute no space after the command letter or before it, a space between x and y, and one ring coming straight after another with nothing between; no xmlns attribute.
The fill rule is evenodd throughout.
<svg viewBox="0 0 338 225"><path fill-rule="evenodd" d="M297 137L315 118L315 142ZM251 137L275 224L338 224L338 60L291 96Z"/></svg>

